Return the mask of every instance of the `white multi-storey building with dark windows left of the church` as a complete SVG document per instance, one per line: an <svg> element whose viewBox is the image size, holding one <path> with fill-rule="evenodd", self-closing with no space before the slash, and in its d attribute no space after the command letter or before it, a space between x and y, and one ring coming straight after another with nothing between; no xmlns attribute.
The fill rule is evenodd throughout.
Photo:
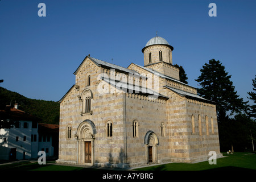
<svg viewBox="0 0 256 182"><path fill-rule="evenodd" d="M15 125L11 129L0 129L0 160L22 160L38 157L42 148L47 156L53 155L51 133L43 133L40 137L48 136L49 139L39 139L39 118L27 114L18 107L10 108L10 117Z"/></svg>

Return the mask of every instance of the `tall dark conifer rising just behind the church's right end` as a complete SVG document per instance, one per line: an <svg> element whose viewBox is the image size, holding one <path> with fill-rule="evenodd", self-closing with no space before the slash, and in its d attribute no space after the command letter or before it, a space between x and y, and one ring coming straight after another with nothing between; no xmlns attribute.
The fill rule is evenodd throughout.
<svg viewBox="0 0 256 182"><path fill-rule="evenodd" d="M201 75L195 79L201 86L197 89L197 93L201 97L216 102L218 114L220 111L231 111L231 114L240 113L246 109L247 102L239 98L233 82L230 81L231 75L228 75L219 60L209 60L209 63L205 63L200 71Z"/></svg>

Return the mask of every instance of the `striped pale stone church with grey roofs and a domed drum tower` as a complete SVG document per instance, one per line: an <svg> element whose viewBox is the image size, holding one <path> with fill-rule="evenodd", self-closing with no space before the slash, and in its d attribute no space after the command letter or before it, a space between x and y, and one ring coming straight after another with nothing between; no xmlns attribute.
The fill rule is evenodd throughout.
<svg viewBox="0 0 256 182"><path fill-rule="evenodd" d="M128 168L220 157L216 105L179 81L173 50L156 36L142 49L144 67L86 56L59 101L57 163Z"/></svg>

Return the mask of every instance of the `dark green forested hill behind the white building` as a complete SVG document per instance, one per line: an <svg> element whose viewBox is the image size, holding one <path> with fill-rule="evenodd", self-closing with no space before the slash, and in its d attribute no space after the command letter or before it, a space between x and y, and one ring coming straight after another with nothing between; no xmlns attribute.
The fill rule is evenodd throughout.
<svg viewBox="0 0 256 182"><path fill-rule="evenodd" d="M1 108L10 104L14 107L15 103L19 104L20 110L42 119L41 123L59 125L60 104L58 102L27 98L0 86Z"/></svg>

